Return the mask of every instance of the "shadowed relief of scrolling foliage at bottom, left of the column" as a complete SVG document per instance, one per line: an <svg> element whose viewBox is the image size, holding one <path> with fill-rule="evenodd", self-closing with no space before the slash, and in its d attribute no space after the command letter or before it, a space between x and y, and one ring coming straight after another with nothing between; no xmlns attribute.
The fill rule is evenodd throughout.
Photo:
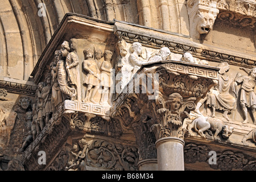
<svg viewBox="0 0 256 182"><path fill-rule="evenodd" d="M86 171L107 169L138 170L138 149L135 146L113 143L102 139L73 140L72 147L64 147L48 171Z"/></svg>

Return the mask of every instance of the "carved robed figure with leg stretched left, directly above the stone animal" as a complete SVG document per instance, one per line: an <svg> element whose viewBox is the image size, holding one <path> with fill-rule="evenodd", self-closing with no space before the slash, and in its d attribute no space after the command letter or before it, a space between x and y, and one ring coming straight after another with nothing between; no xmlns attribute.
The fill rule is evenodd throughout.
<svg viewBox="0 0 256 182"><path fill-rule="evenodd" d="M207 106L212 110L210 117L215 117L216 109L222 110L224 111L223 117L229 121L228 113L232 110L236 110L237 85L226 75L226 72L229 71L228 63L222 62L218 64L217 67L220 68L218 84L210 90L207 97L199 101L195 112L202 115L199 111L199 107L207 100Z"/></svg>

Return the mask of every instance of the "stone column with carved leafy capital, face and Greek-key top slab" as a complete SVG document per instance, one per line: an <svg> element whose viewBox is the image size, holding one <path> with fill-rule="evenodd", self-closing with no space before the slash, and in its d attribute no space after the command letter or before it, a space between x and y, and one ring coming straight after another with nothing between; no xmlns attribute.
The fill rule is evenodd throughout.
<svg viewBox="0 0 256 182"><path fill-rule="evenodd" d="M139 92L119 94L111 117L125 130L133 130L140 170L184 170L183 122L216 84L217 71L183 61L143 65L138 73L146 78L139 85L134 81L133 88L127 85ZM154 92L150 92L150 82Z"/></svg>

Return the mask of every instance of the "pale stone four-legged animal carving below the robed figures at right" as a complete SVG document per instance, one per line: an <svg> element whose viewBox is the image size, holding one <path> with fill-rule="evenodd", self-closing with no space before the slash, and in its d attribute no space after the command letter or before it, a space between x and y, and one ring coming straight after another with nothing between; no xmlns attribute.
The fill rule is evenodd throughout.
<svg viewBox="0 0 256 182"><path fill-rule="evenodd" d="M214 132L214 140L218 140L217 136L221 133L221 137L228 139L233 133L233 127L225 125L221 120L211 119L204 116L195 118L190 125L188 125L188 132L192 134L192 129L196 131L201 137L206 138L204 131L208 131L212 135Z"/></svg>

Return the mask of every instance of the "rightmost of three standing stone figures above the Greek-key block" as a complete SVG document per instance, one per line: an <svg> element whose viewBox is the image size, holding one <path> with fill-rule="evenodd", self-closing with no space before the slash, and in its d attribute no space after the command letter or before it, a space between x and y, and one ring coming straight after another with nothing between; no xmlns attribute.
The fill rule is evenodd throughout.
<svg viewBox="0 0 256 182"><path fill-rule="evenodd" d="M104 61L102 62L101 67L100 67L101 86L104 87L103 90L102 90L102 93L101 93L101 100L100 100L101 105L104 104L106 94L109 93L110 72L111 72L111 69L112 69L112 65L111 65L110 61L112 59L112 56L113 56L113 52L106 50L104 52ZM108 101L109 101L109 97L108 97Z"/></svg>

